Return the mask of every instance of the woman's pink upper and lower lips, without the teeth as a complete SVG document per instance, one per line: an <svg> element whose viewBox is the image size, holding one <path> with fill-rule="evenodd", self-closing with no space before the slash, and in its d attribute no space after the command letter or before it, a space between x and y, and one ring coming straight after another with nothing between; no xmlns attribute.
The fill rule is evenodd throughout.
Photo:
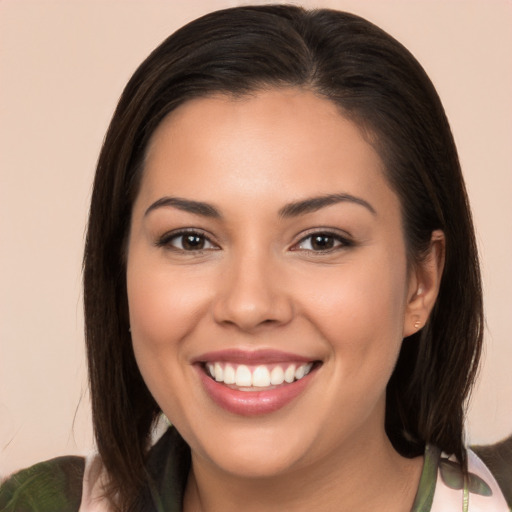
<svg viewBox="0 0 512 512"><path fill-rule="evenodd" d="M262 391L240 391L216 382L206 374L204 364L208 362L231 362L253 366L288 363L290 361L307 363L311 359L275 350L223 350L202 354L195 359L194 363L196 363L203 388L213 402L233 414L256 416L277 411L289 404L305 390L315 372L312 371L302 379L290 384L282 384Z"/></svg>

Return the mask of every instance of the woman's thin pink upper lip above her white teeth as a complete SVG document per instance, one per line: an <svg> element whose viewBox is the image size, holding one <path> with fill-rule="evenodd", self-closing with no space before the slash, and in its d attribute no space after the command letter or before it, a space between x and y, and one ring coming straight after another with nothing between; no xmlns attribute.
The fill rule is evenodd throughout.
<svg viewBox="0 0 512 512"><path fill-rule="evenodd" d="M259 350L241 350L226 349L204 354L195 357L193 363L208 362L229 362L235 364L271 364L271 363L289 363L304 362L309 363L315 361L315 358L305 357L281 350L259 349Z"/></svg>

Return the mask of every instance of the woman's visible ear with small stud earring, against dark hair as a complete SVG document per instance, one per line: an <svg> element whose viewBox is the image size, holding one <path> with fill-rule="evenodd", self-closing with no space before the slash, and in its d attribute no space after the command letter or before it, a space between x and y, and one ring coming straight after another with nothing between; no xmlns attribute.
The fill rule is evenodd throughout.
<svg viewBox="0 0 512 512"><path fill-rule="evenodd" d="M411 270L404 315L404 338L419 331L427 323L439 293L445 246L444 233L439 229L433 231L427 255Z"/></svg>

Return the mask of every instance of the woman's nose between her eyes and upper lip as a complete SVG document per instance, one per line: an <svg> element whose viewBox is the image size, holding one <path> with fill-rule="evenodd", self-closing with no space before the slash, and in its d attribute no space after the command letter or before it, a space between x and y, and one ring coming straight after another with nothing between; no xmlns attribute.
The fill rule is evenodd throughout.
<svg viewBox="0 0 512 512"><path fill-rule="evenodd" d="M213 306L217 323L251 332L292 319L283 273L268 255L232 258L221 281Z"/></svg>

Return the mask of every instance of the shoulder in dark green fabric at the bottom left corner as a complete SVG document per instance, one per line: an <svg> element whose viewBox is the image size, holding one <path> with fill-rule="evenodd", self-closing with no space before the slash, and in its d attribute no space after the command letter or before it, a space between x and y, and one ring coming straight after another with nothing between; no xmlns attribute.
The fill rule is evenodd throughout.
<svg viewBox="0 0 512 512"><path fill-rule="evenodd" d="M83 457L58 457L15 473L0 485L1 512L78 511Z"/></svg>

